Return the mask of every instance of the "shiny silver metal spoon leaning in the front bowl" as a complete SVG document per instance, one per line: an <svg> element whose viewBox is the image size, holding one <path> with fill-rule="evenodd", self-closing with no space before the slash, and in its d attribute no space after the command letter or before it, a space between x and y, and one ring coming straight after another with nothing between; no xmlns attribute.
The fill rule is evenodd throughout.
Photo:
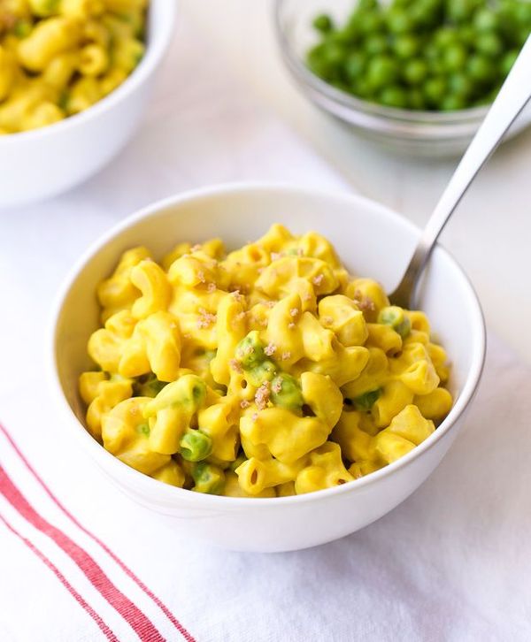
<svg viewBox="0 0 531 642"><path fill-rule="evenodd" d="M481 167L487 163L504 134L524 109L531 97L531 36L512 66L503 87L500 89L489 113L473 137L465 156L458 164L437 203L434 213L427 221L412 260L407 266L403 279L396 290L389 294L389 300L402 308L412 308L420 275L435 248L444 225L448 223L459 202L465 195Z"/></svg>

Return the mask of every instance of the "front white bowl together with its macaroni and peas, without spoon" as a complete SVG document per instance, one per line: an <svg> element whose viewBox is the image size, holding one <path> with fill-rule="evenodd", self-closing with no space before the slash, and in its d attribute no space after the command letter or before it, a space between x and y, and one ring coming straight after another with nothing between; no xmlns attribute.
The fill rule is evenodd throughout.
<svg viewBox="0 0 531 642"><path fill-rule="evenodd" d="M418 236L359 196L267 185L128 218L81 258L55 311L73 456L231 549L295 550L371 524L442 460L485 355L480 304L443 248L423 311L389 306Z"/></svg>

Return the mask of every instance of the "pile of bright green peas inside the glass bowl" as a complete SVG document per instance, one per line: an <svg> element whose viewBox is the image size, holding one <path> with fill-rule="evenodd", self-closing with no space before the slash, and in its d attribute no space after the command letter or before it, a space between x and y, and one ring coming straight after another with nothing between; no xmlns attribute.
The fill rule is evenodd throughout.
<svg viewBox="0 0 531 642"><path fill-rule="evenodd" d="M528 0L358 0L345 24L313 20L313 73L388 107L456 111L491 103L531 32Z"/></svg>

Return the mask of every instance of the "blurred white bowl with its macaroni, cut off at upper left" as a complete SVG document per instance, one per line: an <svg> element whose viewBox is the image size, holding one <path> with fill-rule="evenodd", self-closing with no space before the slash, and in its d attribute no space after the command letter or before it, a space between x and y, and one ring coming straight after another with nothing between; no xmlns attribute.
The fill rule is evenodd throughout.
<svg viewBox="0 0 531 642"><path fill-rule="evenodd" d="M6 6L11 4L13 11L29 11L26 0ZM118 11L124 20L127 11L138 19L137 7L146 4L145 25L124 21L120 40ZM39 18L32 9L33 31L22 31L19 39L11 32L2 38L0 24L0 208L58 195L108 163L134 134L173 35L173 0L32 0L34 5L59 13ZM84 17L93 5L113 13ZM27 23L17 24L23 30ZM145 34L129 36L134 29ZM109 39L112 50L98 44Z"/></svg>

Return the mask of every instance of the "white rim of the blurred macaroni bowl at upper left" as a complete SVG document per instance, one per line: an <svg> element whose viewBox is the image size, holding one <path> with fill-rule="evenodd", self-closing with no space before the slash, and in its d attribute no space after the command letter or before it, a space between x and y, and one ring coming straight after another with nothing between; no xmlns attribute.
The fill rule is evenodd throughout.
<svg viewBox="0 0 531 642"><path fill-rule="evenodd" d="M19 142L36 141L47 136L60 134L72 127L82 127L85 123L98 118L104 111L111 110L115 104L126 100L127 96L134 93L135 89L142 85L157 69L173 36L173 26L177 12L175 0L172 2L168 2L167 0L150 0L148 11L152 11L153 4L158 4L158 8L165 12L164 19L160 20L161 26L157 31L153 32L150 42L147 43L146 52L142 60L136 65L133 72L127 76L126 80L117 88L113 89L110 94L98 100L88 109L73 114L73 116L68 116L63 120L59 120L57 123L38 127L27 132L15 132L14 134L0 136L0 149L3 147L7 148L10 145L16 145Z"/></svg>

